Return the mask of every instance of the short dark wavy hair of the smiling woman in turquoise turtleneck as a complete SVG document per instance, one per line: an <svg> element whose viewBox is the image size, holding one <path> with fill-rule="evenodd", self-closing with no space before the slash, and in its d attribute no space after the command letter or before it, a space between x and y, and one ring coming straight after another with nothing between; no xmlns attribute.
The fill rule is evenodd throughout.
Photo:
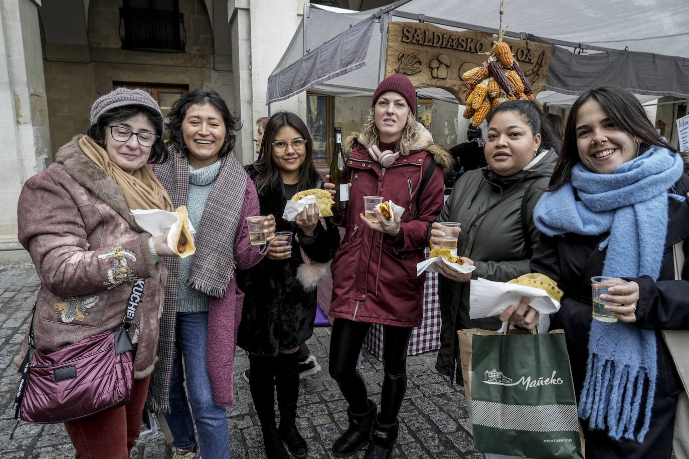
<svg viewBox="0 0 689 459"><path fill-rule="evenodd" d="M237 138L234 132L242 129L242 123L239 120L239 115L229 111L225 100L213 89L207 91L196 89L195 91L187 92L187 94L184 94L172 104L172 109L167 114L167 123L165 123L165 127L169 130L169 142L178 151L187 154L187 145L184 143L182 133L182 122L185 116L187 116L189 107L206 103L218 110L220 115L223 116L223 122L225 122L225 142L223 142L223 146L218 151L218 158L223 158L223 156L234 149L234 142Z"/></svg>

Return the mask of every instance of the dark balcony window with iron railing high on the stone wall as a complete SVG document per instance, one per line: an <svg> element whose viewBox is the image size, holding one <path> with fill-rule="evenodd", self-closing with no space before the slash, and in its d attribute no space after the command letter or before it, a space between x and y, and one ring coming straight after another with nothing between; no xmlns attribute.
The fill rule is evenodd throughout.
<svg viewBox="0 0 689 459"><path fill-rule="evenodd" d="M178 0L123 0L123 50L184 52L187 34Z"/></svg>

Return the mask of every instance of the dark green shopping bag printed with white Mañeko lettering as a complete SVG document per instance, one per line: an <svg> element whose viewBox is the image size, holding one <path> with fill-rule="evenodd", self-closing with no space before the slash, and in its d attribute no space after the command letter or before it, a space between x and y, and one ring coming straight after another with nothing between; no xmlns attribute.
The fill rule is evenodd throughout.
<svg viewBox="0 0 689 459"><path fill-rule="evenodd" d="M474 334L475 450L525 458L582 458L564 333Z"/></svg>

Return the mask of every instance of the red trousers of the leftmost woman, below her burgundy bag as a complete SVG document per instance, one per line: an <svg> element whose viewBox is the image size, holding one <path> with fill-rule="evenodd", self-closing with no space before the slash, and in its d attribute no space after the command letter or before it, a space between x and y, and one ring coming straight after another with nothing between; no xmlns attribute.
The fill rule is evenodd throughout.
<svg viewBox="0 0 689 459"><path fill-rule="evenodd" d="M129 459L141 433L141 414L151 376L134 381L132 399L97 416L65 423L76 449L74 459Z"/></svg>

